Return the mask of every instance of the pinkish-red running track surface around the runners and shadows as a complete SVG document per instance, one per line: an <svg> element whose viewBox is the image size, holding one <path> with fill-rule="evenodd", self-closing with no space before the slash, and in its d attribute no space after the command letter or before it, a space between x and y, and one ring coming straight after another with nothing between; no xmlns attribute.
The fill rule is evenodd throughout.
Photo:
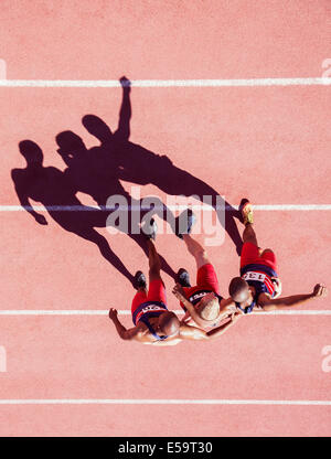
<svg viewBox="0 0 331 459"><path fill-rule="evenodd" d="M0 57L12 79L321 76L330 57L330 12L327 1L3 1ZM130 140L167 154L235 205L246 195L255 204L330 204L330 92L132 88ZM10 172L24 167L19 141L34 140L45 166L63 170L54 140L60 131L71 129L92 147L97 141L81 124L85 114L117 127L119 88L0 94L1 205L18 205ZM142 194L166 198L154 185ZM127 279L94 244L44 215L47 226L26 212L0 212L1 309L129 309ZM285 295L328 285L330 220L330 211L256 212L259 244L277 253ZM126 235L100 233L130 273L147 270L143 252ZM157 243L174 270L185 266L194 276L179 239L160 235ZM226 295L238 269L234 244L226 235L209 252ZM170 309L178 309L173 280L163 277ZM301 309L314 308L330 309L330 299ZM103 316L0 316L8 359L0 398L330 401L331 373L321 367L330 329L331 316L254 316L211 344L151 349L120 341ZM330 434L330 406L0 405L2 436Z"/></svg>

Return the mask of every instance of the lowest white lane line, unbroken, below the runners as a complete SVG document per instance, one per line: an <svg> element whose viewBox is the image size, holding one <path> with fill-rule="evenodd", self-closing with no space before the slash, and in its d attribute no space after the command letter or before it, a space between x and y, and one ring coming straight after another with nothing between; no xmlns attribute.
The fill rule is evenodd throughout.
<svg viewBox="0 0 331 459"><path fill-rule="evenodd" d="M255 401L181 398L17 398L0 399L0 405L306 405L331 406L331 401Z"/></svg>

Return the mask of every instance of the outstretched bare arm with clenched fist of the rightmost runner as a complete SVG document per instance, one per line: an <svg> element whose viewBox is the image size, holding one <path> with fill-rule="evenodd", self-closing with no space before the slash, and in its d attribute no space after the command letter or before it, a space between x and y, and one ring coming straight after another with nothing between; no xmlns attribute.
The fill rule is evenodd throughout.
<svg viewBox="0 0 331 459"><path fill-rule="evenodd" d="M264 311L274 311L275 309L287 309L293 306L303 305L312 298L325 297L328 290L324 286L317 284L312 293L307 295L292 295L290 297L270 298L266 293L261 293L258 298L258 305L261 306Z"/></svg>

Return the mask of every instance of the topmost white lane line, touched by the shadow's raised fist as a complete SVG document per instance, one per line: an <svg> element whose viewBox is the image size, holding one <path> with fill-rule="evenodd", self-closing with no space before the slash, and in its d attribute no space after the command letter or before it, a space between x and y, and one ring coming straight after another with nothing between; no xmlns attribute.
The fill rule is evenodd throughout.
<svg viewBox="0 0 331 459"><path fill-rule="evenodd" d="M331 78L135 79L132 87L328 86ZM0 87L120 87L117 79L0 79Z"/></svg>

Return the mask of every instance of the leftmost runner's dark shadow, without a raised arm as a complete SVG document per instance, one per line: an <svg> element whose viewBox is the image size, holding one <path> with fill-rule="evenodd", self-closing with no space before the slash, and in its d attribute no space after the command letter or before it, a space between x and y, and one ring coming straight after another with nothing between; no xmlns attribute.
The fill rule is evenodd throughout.
<svg viewBox="0 0 331 459"><path fill-rule="evenodd" d="M43 214L33 210L30 199L42 203L46 207L49 215L63 230L96 244L102 255L132 284L134 275L111 250L106 237L96 231L96 227L106 227L109 212L84 206L76 198L77 190L66 171L63 172L54 167L45 168L43 166L43 152L34 141L22 140L19 143L19 149L26 160L26 168L13 169L11 177L20 203L26 212L34 217L36 223L46 225L46 218ZM126 193L124 189L117 189L116 191L122 194ZM61 210L63 207L66 207L66 210ZM129 236L147 254L145 237L141 234ZM170 276L175 276L164 259L162 259L162 268Z"/></svg>

